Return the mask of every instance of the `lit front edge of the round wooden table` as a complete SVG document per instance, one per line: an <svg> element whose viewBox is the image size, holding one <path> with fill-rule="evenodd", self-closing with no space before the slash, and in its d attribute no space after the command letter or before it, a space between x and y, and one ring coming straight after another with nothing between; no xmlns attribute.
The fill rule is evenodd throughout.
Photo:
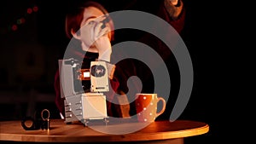
<svg viewBox="0 0 256 144"><path fill-rule="evenodd" d="M199 128L188 130L176 130L168 132L134 133L124 135L92 135L92 136L74 136L74 135L22 135L22 134L0 134L0 141L38 141L38 142L106 142L106 141L157 141L184 138L195 135L203 135L209 131L209 125L206 124ZM150 136L154 135L154 136Z"/></svg>

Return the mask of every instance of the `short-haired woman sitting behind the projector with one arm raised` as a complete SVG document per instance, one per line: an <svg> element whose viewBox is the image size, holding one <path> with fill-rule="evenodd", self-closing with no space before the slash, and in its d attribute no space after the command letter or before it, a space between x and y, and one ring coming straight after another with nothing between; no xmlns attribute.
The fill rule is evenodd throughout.
<svg viewBox="0 0 256 144"><path fill-rule="evenodd" d="M172 1L161 1L157 14L170 23L177 32L181 32L184 22L183 3L181 0ZM136 110L133 102L135 95L126 95L129 91L127 86L128 79L131 76L141 78L143 84L142 92L152 93L154 78L148 67L137 60L122 60L115 65L111 64L110 60L113 51L111 44L116 43L113 41L113 27L113 20L108 17L108 11L100 3L88 1L80 4L75 9L71 9L66 17L66 33L67 37L73 38L73 43L75 44L72 45L72 49L67 49L68 51L64 58L83 61L82 68L89 68L90 61L106 61L112 88L106 94L108 116L130 118L131 115L136 114ZM151 39L152 37L145 35L138 41L150 42L148 45L155 47L162 58L168 60L170 52L165 51L169 50L165 48L165 44L155 41L154 38ZM59 72L55 74L55 93L55 104L64 115Z"/></svg>

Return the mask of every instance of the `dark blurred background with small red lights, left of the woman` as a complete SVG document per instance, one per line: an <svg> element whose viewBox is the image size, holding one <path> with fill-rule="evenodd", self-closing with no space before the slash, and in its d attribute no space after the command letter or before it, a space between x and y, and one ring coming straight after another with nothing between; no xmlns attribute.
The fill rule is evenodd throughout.
<svg viewBox="0 0 256 144"><path fill-rule="evenodd" d="M1 120L32 116L42 108L59 117L53 82L66 44L65 14L59 4L36 0L1 4Z"/></svg>

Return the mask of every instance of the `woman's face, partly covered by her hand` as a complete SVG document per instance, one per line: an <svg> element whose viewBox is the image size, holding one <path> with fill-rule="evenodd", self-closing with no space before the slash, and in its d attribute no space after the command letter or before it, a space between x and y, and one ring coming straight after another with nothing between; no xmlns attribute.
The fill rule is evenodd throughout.
<svg viewBox="0 0 256 144"><path fill-rule="evenodd" d="M91 28L87 28L86 26L90 25L93 21L101 22L105 19L103 15L102 10L95 7L84 9L84 18L80 24L80 37L87 47L93 47L93 45L91 45L91 34L93 33L91 32ZM106 23L106 26L110 27L109 23ZM111 32L108 32L108 38L111 39Z"/></svg>

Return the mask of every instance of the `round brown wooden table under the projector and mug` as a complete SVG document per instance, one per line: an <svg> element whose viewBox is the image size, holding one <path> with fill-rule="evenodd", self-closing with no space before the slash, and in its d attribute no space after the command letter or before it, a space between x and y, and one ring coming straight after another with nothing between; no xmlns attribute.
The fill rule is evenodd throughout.
<svg viewBox="0 0 256 144"><path fill-rule="evenodd" d="M96 124L100 130L125 131L142 123ZM209 125L196 121L156 121L142 130L126 134L107 134L81 123L65 124L61 119L51 119L49 130L24 130L21 121L0 122L0 141L33 142L137 142L137 143L183 143L184 137L202 135ZM122 132L121 132L122 133Z"/></svg>

